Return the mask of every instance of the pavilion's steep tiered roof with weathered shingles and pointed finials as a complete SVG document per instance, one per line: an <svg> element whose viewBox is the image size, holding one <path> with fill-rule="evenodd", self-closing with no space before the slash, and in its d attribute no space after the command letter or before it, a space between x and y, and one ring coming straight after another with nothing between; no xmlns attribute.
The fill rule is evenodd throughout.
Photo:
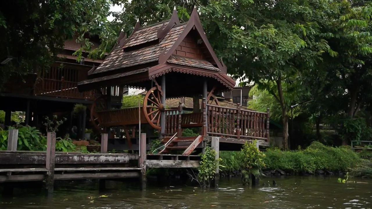
<svg viewBox="0 0 372 209"><path fill-rule="evenodd" d="M194 53L197 55L196 53L201 52L203 55L190 58L185 52L188 57L179 56L182 54L178 53L182 52L183 49L177 48L188 47L180 45L186 36L198 39L195 40L195 44L197 44L192 46L194 47L192 49L197 52L190 52L189 54ZM184 41L183 43L186 42ZM204 57L204 55L206 56ZM205 59L203 60L202 58ZM174 10L170 20L154 25L141 28L140 22L137 21L133 32L128 38L124 32L121 32L115 47L102 64L89 71L88 80L92 80L92 82L81 82L78 84L78 88L79 90L87 90L87 84L89 84L89 87L92 87L93 83L96 82L103 84L96 80L96 78L102 77L105 77L107 85L126 86L126 83L112 83L111 80L114 79L115 75L132 77L132 80L136 83L137 77L134 74L122 73L144 68L148 69L148 83L150 83L150 86L152 79L167 73L171 73L174 76L176 76L174 73L187 73L200 79L208 77L208 86L212 88L217 85L219 90L233 89L235 85L235 81L226 75L226 66L222 61L218 60L209 44L198 12L194 8L189 21L185 23L179 22L177 11ZM141 84L138 83L138 87L147 88L148 83L142 82L144 80L143 78L141 79ZM115 79L115 81L118 81L118 79ZM187 84L188 81L183 82Z"/></svg>

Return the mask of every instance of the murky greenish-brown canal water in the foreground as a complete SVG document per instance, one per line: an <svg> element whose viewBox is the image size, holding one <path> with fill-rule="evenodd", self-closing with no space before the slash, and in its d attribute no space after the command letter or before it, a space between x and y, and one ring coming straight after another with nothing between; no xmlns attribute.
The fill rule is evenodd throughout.
<svg viewBox="0 0 372 209"><path fill-rule="evenodd" d="M275 180L277 185L272 186ZM99 192L96 181L59 183L54 197L48 199L35 189L15 190L13 198L0 197L0 209L171 209L171 208L342 208L371 209L372 180L349 179L342 184L337 177L264 178L256 187L243 187L239 178L222 179L219 189L193 186L108 181ZM263 186L263 181L270 185ZM359 182L359 183L357 183Z"/></svg>

